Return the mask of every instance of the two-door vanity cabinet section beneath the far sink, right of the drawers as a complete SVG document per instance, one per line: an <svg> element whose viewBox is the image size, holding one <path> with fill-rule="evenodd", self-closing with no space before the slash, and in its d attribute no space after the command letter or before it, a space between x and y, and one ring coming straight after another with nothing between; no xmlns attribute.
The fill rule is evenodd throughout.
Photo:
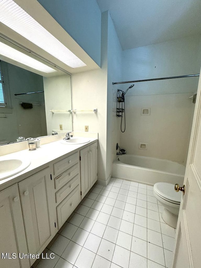
<svg viewBox="0 0 201 268"><path fill-rule="evenodd" d="M80 150L81 198L97 180L97 142Z"/></svg>

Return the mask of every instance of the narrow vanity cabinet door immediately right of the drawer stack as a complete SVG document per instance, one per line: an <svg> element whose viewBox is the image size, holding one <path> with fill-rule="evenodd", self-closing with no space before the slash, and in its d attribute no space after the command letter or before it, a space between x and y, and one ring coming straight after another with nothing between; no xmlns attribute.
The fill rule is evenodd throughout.
<svg viewBox="0 0 201 268"><path fill-rule="evenodd" d="M81 191L82 196L81 198L85 196L85 194L89 191L90 187L90 157L89 157L89 149L90 146L80 150L80 177L81 177Z"/></svg>

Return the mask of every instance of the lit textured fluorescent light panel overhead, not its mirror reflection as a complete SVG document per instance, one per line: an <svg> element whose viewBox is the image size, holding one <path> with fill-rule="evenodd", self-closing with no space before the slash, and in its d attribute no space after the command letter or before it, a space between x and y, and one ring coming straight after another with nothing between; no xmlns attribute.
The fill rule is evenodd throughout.
<svg viewBox="0 0 201 268"><path fill-rule="evenodd" d="M86 66L12 0L0 0L0 21L72 68Z"/></svg>

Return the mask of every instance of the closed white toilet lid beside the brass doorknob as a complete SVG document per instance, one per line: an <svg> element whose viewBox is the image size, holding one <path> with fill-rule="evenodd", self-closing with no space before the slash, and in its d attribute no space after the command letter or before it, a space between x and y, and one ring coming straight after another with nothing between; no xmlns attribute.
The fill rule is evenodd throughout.
<svg viewBox="0 0 201 268"><path fill-rule="evenodd" d="M154 190L161 198L172 203L180 204L182 192L176 192L172 183L155 183Z"/></svg>

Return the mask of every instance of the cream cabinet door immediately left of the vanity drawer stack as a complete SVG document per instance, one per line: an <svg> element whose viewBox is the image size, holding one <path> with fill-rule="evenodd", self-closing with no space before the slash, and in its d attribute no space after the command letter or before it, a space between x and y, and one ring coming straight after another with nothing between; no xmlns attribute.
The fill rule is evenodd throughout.
<svg viewBox="0 0 201 268"><path fill-rule="evenodd" d="M19 183L27 245L31 254L40 252L52 234L48 203L49 181L50 171L46 168Z"/></svg>

